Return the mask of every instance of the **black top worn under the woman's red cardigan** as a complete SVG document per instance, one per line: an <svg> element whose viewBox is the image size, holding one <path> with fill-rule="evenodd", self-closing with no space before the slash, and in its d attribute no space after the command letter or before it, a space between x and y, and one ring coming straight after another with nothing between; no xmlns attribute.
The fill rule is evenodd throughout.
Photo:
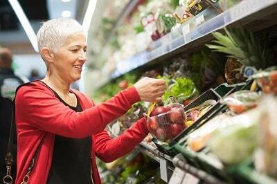
<svg viewBox="0 0 277 184"><path fill-rule="evenodd" d="M79 100L77 107L71 107L57 93L55 95L73 111L82 111ZM91 137L78 139L55 135L53 160L47 183L93 183L91 179Z"/></svg>

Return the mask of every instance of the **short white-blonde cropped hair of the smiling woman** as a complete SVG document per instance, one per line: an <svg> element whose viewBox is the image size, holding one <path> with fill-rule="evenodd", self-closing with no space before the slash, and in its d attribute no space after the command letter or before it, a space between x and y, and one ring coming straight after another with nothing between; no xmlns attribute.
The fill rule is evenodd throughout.
<svg viewBox="0 0 277 184"><path fill-rule="evenodd" d="M57 53L67 37L78 33L84 34L84 29L74 19L57 18L44 22L37 32L39 53L43 47Z"/></svg>

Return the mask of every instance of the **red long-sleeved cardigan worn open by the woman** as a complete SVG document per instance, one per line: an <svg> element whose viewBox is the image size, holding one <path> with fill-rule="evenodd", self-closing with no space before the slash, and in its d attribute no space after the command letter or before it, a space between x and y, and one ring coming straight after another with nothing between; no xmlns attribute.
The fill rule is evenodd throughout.
<svg viewBox="0 0 277 184"><path fill-rule="evenodd" d="M17 125L17 178L24 178L30 160L42 140L35 166L30 174L30 184L46 183L52 163L55 134L69 138L92 136L91 167L93 182L101 183L96 156L109 163L127 154L148 134L145 119L136 122L118 138L111 138L106 125L122 116L135 102L139 94L134 87L121 91L107 102L95 105L86 95L72 90L80 100L84 111L75 112L55 98L53 91L39 81L21 86L15 98Z"/></svg>

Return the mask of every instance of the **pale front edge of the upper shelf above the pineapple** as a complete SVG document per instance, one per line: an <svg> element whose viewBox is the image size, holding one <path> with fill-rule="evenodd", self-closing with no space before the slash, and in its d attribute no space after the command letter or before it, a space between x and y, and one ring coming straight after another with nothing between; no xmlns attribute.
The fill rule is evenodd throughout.
<svg viewBox="0 0 277 184"><path fill-rule="evenodd" d="M116 69L111 73L111 80L124 75L129 71L143 66L150 66L161 62L171 55L189 51L212 39L211 33L224 26L244 26L258 30L276 24L277 0L244 0L232 8L216 15L212 19L199 24L205 11L192 19L195 28L190 30L191 21L182 25L175 33L169 33L165 37L152 44L152 50L144 50L134 57L119 62ZM199 26L196 26L199 25ZM151 46L150 46L151 47Z"/></svg>

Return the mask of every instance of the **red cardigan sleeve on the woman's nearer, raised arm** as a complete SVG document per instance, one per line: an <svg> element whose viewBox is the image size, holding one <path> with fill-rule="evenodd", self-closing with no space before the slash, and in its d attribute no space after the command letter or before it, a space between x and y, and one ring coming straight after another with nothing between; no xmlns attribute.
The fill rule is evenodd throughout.
<svg viewBox="0 0 277 184"><path fill-rule="evenodd" d="M81 104L84 98L79 99ZM88 101L88 100L85 100ZM82 112L66 107L55 95L42 86L22 86L16 96L17 124L28 125L43 131L70 138L84 138L97 134L112 120L122 116L132 104L139 101L134 87L121 91L107 102ZM19 127L20 128L20 127Z"/></svg>

